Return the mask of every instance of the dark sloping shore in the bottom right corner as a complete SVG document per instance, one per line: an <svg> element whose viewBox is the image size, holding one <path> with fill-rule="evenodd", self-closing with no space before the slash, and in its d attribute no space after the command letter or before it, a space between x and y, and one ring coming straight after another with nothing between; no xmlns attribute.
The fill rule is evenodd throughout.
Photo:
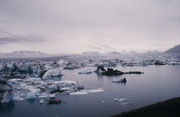
<svg viewBox="0 0 180 117"><path fill-rule="evenodd" d="M122 112L112 117L180 117L180 97Z"/></svg>

